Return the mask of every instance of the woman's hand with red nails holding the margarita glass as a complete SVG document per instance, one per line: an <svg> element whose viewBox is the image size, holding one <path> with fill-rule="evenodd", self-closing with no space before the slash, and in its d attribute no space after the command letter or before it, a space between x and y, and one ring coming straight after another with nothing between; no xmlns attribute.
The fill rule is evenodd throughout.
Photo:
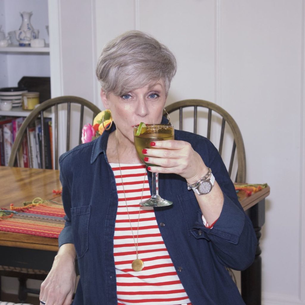
<svg viewBox="0 0 305 305"><path fill-rule="evenodd" d="M208 171L201 156L188 142L156 141L151 147L142 151L148 158L145 162L156 165L149 169L151 172L178 174L192 184Z"/></svg>

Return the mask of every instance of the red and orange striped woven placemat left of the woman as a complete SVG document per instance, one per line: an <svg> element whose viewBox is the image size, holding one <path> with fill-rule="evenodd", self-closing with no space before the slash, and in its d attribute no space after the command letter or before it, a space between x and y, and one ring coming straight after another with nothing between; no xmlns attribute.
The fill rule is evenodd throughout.
<svg viewBox="0 0 305 305"><path fill-rule="evenodd" d="M0 231L58 238L65 224L62 203L35 198L32 203L11 204L10 208L0 209Z"/></svg>

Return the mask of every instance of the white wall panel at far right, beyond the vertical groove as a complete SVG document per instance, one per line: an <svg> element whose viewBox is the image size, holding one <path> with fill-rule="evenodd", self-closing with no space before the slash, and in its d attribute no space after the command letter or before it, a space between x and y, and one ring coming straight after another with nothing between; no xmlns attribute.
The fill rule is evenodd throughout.
<svg viewBox="0 0 305 305"><path fill-rule="evenodd" d="M247 180L271 186L261 239L264 300L305 304L304 2L238 2L221 1L221 100L244 137Z"/></svg>

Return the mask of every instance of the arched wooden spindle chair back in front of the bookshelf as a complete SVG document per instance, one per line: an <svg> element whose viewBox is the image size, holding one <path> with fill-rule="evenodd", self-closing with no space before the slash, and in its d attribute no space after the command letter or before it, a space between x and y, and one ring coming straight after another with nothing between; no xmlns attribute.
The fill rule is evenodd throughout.
<svg viewBox="0 0 305 305"><path fill-rule="evenodd" d="M66 105L66 109L59 109L59 105ZM37 108L31 111L31 113L28 115L28 117L23 121L20 130L17 133L16 139L12 146L11 156L9 158L9 166L20 166L19 158L17 157L19 154L19 151L23 145L23 138L26 135L27 136L27 150L30 152L30 127L34 124L35 120L39 118L40 124L41 124L41 131L42 131L42 137L41 137L41 147L45 147L46 145L46 130L45 130L45 111L48 111L48 116L50 113L52 113L53 110L53 116L54 116L54 122L52 122L52 131L54 132L54 164L55 169L58 169L58 122L59 122L59 113L62 111L66 111L66 149L65 151L70 150L70 131L71 129L74 132L74 127L71 126L71 112L72 108L75 107L74 105L79 105L79 110L77 109L74 112L79 112L79 121L77 122L79 124L79 133L78 133L78 144L81 144L81 132L83 127L83 120L84 120L84 112L85 109L89 109L92 115L92 119L90 119L90 122L93 121L93 118L101 111L97 106L92 104L91 102L87 101L86 99L82 99L77 96L61 96L56 97L54 99L48 99L45 102L41 103ZM51 114L52 116L52 114ZM62 133L61 133L62 135ZM46 151L45 149L41 149L41 167L45 168L46 165ZM29 158L30 167L33 167L32 164L32 158Z"/></svg>

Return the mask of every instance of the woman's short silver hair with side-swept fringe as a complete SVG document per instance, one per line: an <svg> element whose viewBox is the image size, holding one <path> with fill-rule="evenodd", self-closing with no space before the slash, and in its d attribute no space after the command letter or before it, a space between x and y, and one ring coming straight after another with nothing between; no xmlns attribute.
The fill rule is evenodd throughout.
<svg viewBox="0 0 305 305"><path fill-rule="evenodd" d="M176 70L175 56L165 45L147 33L132 30L103 48L96 76L106 94L123 95L163 79L167 95Z"/></svg>

